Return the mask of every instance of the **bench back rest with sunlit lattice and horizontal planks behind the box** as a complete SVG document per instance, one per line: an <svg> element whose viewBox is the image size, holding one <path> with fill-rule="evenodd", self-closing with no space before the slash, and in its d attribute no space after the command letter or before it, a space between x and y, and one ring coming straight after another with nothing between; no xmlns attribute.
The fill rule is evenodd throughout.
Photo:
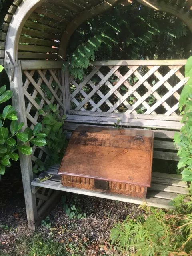
<svg viewBox="0 0 192 256"><path fill-rule="evenodd" d="M70 76L70 90L66 84L70 102L65 129L71 132L80 124L150 128L154 158L178 161L173 138L182 127L178 100L188 81L185 64L186 60L93 62L83 81Z"/></svg>

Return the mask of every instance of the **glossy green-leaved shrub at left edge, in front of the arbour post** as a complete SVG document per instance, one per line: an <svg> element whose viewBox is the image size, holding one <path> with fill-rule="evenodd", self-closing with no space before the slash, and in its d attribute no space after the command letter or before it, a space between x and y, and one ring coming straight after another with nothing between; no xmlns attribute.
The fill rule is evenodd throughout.
<svg viewBox="0 0 192 256"><path fill-rule="evenodd" d="M0 66L2 71L2 66ZM13 92L6 90L6 85L0 88L0 104L8 101L12 97ZM17 151L25 155L32 154L32 148L29 143L36 146L45 146L46 134L40 133L41 124L36 124L34 129L26 128L21 132L24 123L18 123L17 112L11 105L5 106L2 114L0 114L0 175L4 175L6 168L11 166L10 159L17 161L19 155ZM10 127L5 127L5 121L11 120ZM18 139L18 142L16 142Z"/></svg>

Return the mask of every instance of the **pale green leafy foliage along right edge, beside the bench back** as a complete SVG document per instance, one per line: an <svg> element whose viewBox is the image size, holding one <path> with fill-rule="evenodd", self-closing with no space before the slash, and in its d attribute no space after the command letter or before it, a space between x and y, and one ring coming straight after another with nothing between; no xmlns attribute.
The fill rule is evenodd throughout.
<svg viewBox="0 0 192 256"><path fill-rule="evenodd" d="M184 168L182 177L184 181L192 181L192 56L188 59L185 66L185 76L190 77L188 83L184 86L180 100L179 109L183 115L181 135L176 132L174 141L179 147L178 156L181 158L178 162L178 169Z"/></svg>

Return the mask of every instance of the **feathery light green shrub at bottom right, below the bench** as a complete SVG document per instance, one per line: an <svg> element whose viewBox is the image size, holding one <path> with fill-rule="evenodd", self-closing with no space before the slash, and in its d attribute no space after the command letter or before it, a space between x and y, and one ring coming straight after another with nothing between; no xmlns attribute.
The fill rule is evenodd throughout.
<svg viewBox="0 0 192 256"><path fill-rule="evenodd" d="M188 195L176 198L176 211L144 206L146 214L136 219L128 216L111 230L112 244L131 251L136 256L192 255L192 188ZM183 213L190 214L183 215Z"/></svg>

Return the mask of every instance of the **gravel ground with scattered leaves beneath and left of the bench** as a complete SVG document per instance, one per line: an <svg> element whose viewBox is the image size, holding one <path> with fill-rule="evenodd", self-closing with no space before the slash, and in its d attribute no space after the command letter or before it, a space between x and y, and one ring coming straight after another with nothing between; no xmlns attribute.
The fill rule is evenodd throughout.
<svg viewBox="0 0 192 256"><path fill-rule="evenodd" d="M24 250L18 249L18 240L30 238L34 232L27 228L21 182L0 182L0 194L5 195L0 200L0 225L4 225L0 228L0 255L25 255ZM126 255L110 246L110 229L128 215L133 218L142 214L138 205L77 194L67 194L66 204L69 207L75 205L86 217L69 219L60 202L52 210L45 226L38 228L39 234L65 244L68 255L76 256L71 249L74 246L86 248L84 253L78 255Z"/></svg>

